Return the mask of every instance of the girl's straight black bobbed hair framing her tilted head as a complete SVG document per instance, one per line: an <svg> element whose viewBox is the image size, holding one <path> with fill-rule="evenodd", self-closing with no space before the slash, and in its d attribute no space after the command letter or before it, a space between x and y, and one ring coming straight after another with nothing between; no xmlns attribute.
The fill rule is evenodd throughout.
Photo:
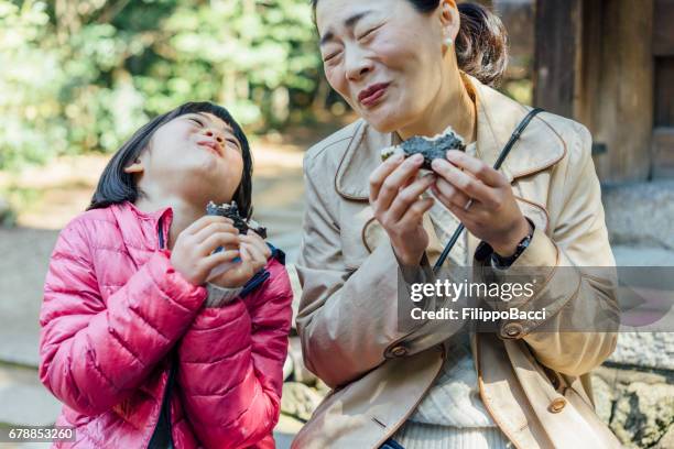
<svg viewBox="0 0 674 449"><path fill-rule="evenodd" d="M237 201L239 212L246 218L252 215L252 156L248 139L239 127L239 123L231 117L227 109L211 102L187 102L174 110L162 116L155 117L152 121L144 124L141 129L129 139L115 153L104 173L100 175L98 186L91 198L91 204L87 207L90 209L100 209L110 205L116 205L124 201L135 202L142 195L133 180L133 175L124 173L124 168L131 165L148 147L154 132L164 123L170 122L176 117L194 112L209 112L229 124L233 131L233 135L241 144L241 154L243 157L243 176L241 183L233 195L233 200Z"/></svg>

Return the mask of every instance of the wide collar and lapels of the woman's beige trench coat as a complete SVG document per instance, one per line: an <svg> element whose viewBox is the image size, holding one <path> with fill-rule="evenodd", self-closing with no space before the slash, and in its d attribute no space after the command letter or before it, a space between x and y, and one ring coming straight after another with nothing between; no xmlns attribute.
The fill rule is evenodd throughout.
<svg viewBox="0 0 674 449"><path fill-rule="evenodd" d="M472 77L477 101L477 155L493 165L529 108L482 85ZM347 199L367 200L368 178L381 164L380 151L398 143L395 133L382 134L360 119L335 175L336 190ZM559 162L566 154L561 135L539 114L501 166L510 182L537 173Z"/></svg>

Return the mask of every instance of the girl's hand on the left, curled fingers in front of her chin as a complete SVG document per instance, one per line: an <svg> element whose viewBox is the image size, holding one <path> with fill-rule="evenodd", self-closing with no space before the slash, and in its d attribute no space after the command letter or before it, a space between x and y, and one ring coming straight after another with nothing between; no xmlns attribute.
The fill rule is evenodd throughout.
<svg viewBox="0 0 674 449"><path fill-rule="evenodd" d="M202 217L178 234L171 264L188 282L202 285L214 267L239 256L239 240L229 218ZM211 254L218 247L224 250Z"/></svg>

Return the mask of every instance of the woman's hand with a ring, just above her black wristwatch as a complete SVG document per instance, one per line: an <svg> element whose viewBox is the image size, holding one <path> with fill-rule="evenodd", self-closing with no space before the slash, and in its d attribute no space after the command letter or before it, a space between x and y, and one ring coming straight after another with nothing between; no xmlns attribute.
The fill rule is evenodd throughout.
<svg viewBox="0 0 674 449"><path fill-rule="evenodd" d="M497 254L512 255L530 225L506 176L456 150L447 152L446 161L433 161L432 167L438 176L432 187L437 199Z"/></svg>

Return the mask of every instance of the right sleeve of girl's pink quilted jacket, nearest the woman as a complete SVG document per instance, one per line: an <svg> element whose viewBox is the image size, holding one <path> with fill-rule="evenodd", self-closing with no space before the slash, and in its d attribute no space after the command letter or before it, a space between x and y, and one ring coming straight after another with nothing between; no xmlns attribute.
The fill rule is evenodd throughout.
<svg viewBox="0 0 674 449"><path fill-rule="evenodd" d="M207 448L273 447L292 319L285 267L244 298L204 308L180 347L183 404Z"/></svg>

